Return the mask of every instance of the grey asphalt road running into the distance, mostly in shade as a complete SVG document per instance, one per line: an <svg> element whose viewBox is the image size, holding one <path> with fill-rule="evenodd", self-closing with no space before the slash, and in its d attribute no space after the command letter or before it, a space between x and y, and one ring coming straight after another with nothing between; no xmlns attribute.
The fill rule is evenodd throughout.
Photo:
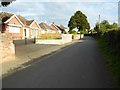
<svg viewBox="0 0 120 90"><path fill-rule="evenodd" d="M114 88L96 41L85 37L3 79L3 88Z"/></svg>

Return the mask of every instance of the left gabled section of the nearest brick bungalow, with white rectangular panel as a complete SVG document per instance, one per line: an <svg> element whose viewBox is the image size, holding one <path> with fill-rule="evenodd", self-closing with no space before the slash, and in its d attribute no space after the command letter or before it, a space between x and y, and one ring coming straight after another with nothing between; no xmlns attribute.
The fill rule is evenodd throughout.
<svg viewBox="0 0 120 90"><path fill-rule="evenodd" d="M2 33L10 33L13 39L22 38L24 24L16 15L7 12L0 12L0 19L0 31Z"/></svg>

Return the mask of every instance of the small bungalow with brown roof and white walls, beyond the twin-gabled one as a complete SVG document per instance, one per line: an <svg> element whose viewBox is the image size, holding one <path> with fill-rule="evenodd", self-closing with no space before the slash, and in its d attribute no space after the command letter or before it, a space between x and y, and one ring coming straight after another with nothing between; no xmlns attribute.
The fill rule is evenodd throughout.
<svg viewBox="0 0 120 90"><path fill-rule="evenodd" d="M50 26L48 26L46 23L40 23L39 24L41 27L41 34L49 34L49 33L56 33Z"/></svg>

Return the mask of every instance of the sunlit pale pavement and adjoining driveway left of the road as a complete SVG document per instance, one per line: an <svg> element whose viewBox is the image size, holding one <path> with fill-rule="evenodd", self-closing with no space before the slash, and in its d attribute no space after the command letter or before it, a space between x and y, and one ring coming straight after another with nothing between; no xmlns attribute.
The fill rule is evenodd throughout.
<svg viewBox="0 0 120 90"><path fill-rule="evenodd" d="M23 64L35 59L48 55L52 52L58 51L59 49L71 45L77 42L72 41L64 45L43 45L43 44L33 44L28 42L27 45L24 44L24 41L15 42L15 60L7 61L2 63L2 77L7 76L10 73L15 72L17 69L25 68Z"/></svg>

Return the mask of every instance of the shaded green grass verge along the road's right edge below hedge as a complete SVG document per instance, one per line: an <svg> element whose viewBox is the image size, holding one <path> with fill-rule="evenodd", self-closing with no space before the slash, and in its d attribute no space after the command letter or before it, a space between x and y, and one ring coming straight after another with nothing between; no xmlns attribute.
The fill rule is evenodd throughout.
<svg viewBox="0 0 120 90"><path fill-rule="evenodd" d="M101 38L97 39L98 46L106 60L108 69L112 72L113 78L120 88L120 57L107 48L106 42Z"/></svg>

